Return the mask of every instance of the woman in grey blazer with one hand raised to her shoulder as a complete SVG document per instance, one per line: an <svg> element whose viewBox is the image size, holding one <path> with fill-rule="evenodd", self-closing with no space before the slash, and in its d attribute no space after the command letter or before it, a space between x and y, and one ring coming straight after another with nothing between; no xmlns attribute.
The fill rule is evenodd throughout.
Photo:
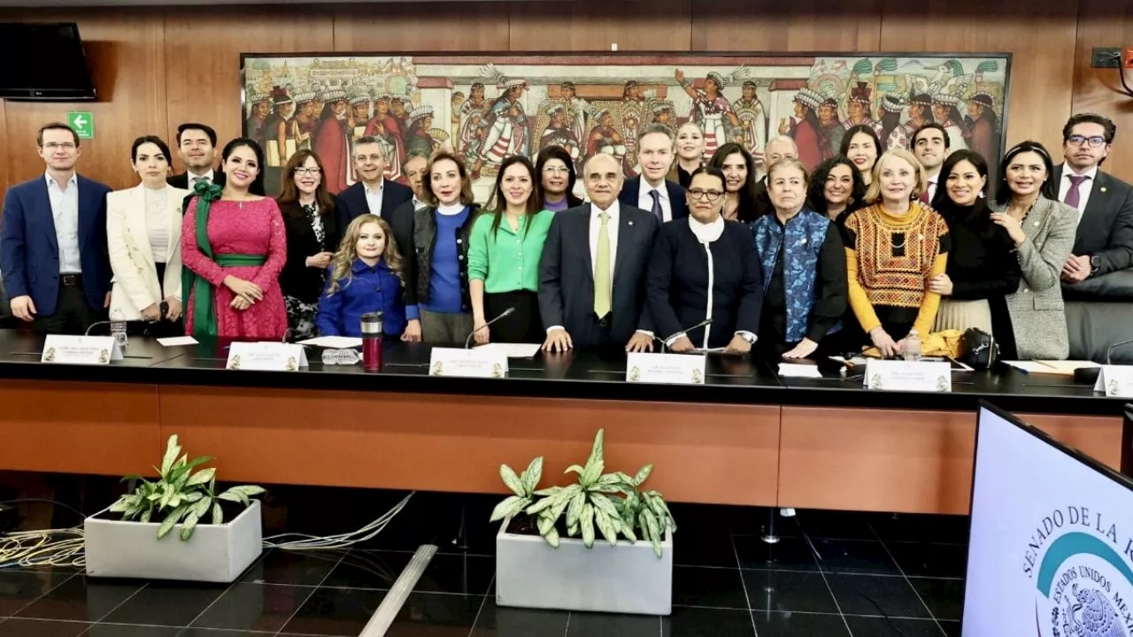
<svg viewBox="0 0 1133 637"><path fill-rule="evenodd" d="M1054 161L1038 142L1012 146L999 163L991 221L1007 230L1022 272L1007 295L1010 333L995 334L1005 360L1070 356L1059 274L1074 248L1077 210L1057 201Z"/></svg>

